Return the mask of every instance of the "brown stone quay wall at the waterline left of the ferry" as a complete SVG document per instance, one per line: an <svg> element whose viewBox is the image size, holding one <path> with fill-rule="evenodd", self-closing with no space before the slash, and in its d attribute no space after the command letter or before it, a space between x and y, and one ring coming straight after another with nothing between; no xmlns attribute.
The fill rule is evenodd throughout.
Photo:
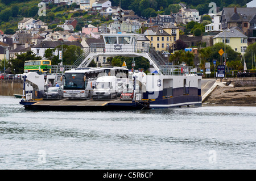
<svg viewBox="0 0 256 181"><path fill-rule="evenodd" d="M22 94L23 80L0 80L0 95Z"/></svg>

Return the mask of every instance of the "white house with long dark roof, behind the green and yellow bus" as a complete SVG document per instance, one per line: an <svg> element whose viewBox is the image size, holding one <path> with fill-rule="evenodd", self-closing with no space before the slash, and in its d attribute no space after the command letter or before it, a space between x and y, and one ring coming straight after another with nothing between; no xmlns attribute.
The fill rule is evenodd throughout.
<svg viewBox="0 0 256 181"><path fill-rule="evenodd" d="M33 47L31 47L31 50L33 53L36 54L36 56L41 56L43 59L46 58L44 57L44 52L49 49L49 48L56 48L58 46L61 46L61 43L63 43L63 45L76 45L80 48L83 48L81 43L79 43L79 41L42 41L40 44L34 45ZM58 50L56 50L53 54L58 54L57 52Z"/></svg>

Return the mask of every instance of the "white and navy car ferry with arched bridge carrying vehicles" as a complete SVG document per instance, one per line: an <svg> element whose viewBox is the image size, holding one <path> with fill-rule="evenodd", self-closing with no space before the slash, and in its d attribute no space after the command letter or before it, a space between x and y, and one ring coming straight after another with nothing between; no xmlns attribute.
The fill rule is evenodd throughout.
<svg viewBox="0 0 256 181"><path fill-rule="evenodd" d="M102 37L104 44L91 44L77 68L61 75L64 99L42 100L46 91L43 75L29 72L23 74L23 95L26 98L20 104L26 109L36 110L141 110L201 106L202 77L193 73L192 66L168 65L149 44L139 47L139 35L136 33L102 33ZM117 67L89 68L90 62L98 56L142 56L148 59L155 73L128 72L126 68ZM138 87L136 90L134 88L133 100L121 100L119 97L110 100L92 99L93 91L97 89L97 78L120 78L117 72L122 73L122 81L119 79L118 82L120 94L125 89L122 85L133 84L133 87ZM76 86L68 86L72 79L76 81ZM112 87L110 84L108 86Z"/></svg>

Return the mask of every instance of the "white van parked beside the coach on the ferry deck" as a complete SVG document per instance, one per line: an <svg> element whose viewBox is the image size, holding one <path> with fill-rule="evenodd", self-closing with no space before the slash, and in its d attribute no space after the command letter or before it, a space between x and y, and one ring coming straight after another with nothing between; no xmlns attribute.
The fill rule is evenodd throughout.
<svg viewBox="0 0 256 181"><path fill-rule="evenodd" d="M115 76L98 77L93 87L93 99L117 98L118 82Z"/></svg>

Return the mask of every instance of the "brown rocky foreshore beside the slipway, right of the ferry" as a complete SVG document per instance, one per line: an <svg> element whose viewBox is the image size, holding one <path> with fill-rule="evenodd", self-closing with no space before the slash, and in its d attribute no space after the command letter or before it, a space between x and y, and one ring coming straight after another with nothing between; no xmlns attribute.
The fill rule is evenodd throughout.
<svg viewBox="0 0 256 181"><path fill-rule="evenodd" d="M203 106L256 106L256 87L233 87L222 83L208 96Z"/></svg>

